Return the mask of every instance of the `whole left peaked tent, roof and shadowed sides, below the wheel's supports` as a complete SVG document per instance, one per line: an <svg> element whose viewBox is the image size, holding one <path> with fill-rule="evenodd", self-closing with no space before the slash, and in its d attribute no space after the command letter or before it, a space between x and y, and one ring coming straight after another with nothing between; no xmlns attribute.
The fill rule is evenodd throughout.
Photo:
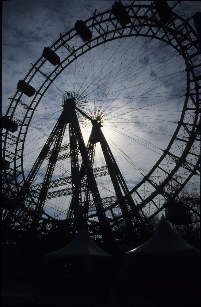
<svg viewBox="0 0 201 307"><path fill-rule="evenodd" d="M93 242L83 225L71 243L45 256L42 277L53 277L56 282L64 278L71 286L79 282L93 286L105 272L109 273L111 260L112 256Z"/></svg>

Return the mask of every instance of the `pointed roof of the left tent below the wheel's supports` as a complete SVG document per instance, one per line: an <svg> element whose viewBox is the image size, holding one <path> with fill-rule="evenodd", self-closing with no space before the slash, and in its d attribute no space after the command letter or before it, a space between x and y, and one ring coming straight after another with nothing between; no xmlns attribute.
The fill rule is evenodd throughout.
<svg viewBox="0 0 201 307"><path fill-rule="evenodd" d="M47 254L47 257L87 257L87 256L99 256L99 257L112 257L107 252L103 251L96 245L91 239L85 225L75 237L75 239L51 254Z"/></svg>

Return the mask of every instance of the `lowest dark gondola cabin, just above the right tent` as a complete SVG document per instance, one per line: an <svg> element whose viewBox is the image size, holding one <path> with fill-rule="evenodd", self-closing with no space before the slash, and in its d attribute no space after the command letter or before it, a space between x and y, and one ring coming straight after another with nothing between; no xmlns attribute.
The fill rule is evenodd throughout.
<svg viewBox="0 0 201 307"><path fill-rule="evenodd" d="M168 222L176 225L188 225L192 223L190 210L176 200L170 200L165 204L165 217Z"/></svg>

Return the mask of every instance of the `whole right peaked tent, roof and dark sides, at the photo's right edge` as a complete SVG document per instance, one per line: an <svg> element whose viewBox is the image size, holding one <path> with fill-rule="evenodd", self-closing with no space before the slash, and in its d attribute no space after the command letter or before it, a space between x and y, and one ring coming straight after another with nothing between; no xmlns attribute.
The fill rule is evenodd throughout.
<svg viewBox="0 0 201 307"><path fill-rule="evenodd" d="M199 284L199 250L185 242L162 215L146 243L125 253L128 280L139 289L146 281L149 289L192 290ZM184 290L185 289L185 290Z"/></svg>

